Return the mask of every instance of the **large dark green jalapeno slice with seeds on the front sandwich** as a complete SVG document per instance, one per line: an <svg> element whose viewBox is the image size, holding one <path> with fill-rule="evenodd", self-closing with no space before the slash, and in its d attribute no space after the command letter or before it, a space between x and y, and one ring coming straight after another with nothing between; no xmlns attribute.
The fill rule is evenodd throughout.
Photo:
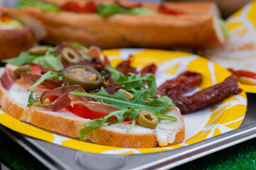
<svg viewBox="0 0 256 170"><path fill-rule="evenodd" d="M64 84L78 84L85 91L97 89L102 81L102 76L96 69L85 65L72 65L63 70Z"/></svg>

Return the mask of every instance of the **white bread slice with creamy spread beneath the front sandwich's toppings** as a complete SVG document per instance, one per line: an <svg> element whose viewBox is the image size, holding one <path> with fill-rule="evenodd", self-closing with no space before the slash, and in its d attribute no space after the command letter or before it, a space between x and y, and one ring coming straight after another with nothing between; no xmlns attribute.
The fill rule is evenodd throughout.
<svg viewBox="0 0 256 170"><path fill-rule="evenodd" d="M4 68L0 69L0 75ZM36 91L35 91L36 92ZM38 91L39 92L39 91ZM87 119L80 118L63 109L53 112L44 108L28 108L29 91L17 84L7 91L0 84L0 106L12 117L26 123L37 125L46 130L60 132L63 135L78 137L79 130ZM184 121L178 108L169 108L166 115L177 118L177 122L162 120L155 130L134 125L131 132L127 132L130 123L116 125L103 125L101 128L90 132L87 139L101 145L114 147L157 147L176 145L184 140Z"/></svg>

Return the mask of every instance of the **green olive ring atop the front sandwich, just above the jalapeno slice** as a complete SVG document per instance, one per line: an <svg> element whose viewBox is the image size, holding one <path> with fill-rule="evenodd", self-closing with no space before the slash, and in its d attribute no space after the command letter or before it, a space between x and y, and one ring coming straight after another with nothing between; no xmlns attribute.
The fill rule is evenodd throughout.
<svg viewBox="0 0 256 170"><path fill-rule="evenodd" d="M61 57L65 62L75 64L79 62L78 53L70 47L65 47L61 51Z"/></svg>

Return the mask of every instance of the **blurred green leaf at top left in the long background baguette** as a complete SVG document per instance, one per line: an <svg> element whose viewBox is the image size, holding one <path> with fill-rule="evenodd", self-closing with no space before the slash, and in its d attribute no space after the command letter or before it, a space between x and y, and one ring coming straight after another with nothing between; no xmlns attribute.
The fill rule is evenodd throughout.
<svg viewBox="0 0 256 170"><path fill-rule="evenodd" d="M53 11L58 12L60 8L54 4L49 4L41 1L29 1L29 0L19 0L16 8L20 8L21 6L30 6L40 8L42 11Z"/></svg>

